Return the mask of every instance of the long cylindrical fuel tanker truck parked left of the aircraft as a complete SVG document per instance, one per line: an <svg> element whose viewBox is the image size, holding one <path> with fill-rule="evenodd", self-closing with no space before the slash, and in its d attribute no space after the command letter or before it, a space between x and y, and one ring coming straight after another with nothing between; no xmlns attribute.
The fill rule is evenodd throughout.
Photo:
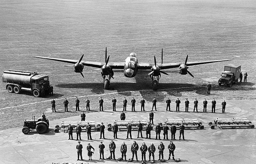
<svg viewBox="0 0 256 164"><path fill-rule="evenodd" d="M40 97L40 90L44 86L45 94L50 92L49 76L37 74L37 72L8 70L2 75L3 82L6 82L6 89L9 93L19 94L20 91L29 91L35 97Z"/></svg>

